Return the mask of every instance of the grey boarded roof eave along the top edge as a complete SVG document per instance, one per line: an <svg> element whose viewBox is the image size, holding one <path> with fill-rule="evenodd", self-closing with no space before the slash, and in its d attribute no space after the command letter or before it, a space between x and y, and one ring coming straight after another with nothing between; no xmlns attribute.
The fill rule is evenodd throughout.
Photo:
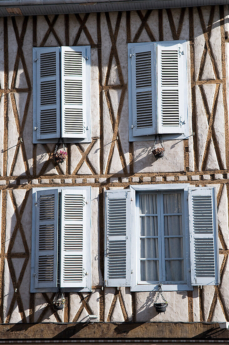
<svg viewBox="0 0 229 345"><path fill-rule="evenodd" d="M0 0L0 16L130 11L227 3L228 0Z"/></svg>

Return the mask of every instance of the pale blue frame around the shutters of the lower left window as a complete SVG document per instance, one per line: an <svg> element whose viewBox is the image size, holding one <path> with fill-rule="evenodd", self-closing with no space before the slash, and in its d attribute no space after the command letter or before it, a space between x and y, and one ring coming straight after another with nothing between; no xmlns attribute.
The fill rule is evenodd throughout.
<svg viewBox="0 0 229 345"><path fill-rule="evenodd" d="M41 187L41 188L32 188L32 246L31 246L31 279L30 279L30 292L56 292L58 291L59 287L55 288L35 288L35 228L36 228L36 210L35 210L35 202L36 202L36 194L38 190L48 190L49 189L58 189L58 193L61 193L61 190L82 190L86 191L86 248L87 253L90 255L86 255L86 269L87 272L87 287L68 287L68 288L61 288L63 292L91 292L91 186L85 187ZM57 253L57 256L60 256L60 253Z"/></svg>

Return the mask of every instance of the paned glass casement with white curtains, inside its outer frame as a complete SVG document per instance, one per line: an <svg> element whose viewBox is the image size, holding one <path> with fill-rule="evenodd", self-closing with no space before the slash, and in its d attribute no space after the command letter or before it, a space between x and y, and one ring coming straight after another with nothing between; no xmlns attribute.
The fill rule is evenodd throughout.
<svg viewBox="0 0 229 345"><path fill-rule="evenodd" d="M186 282L181 192L136 195L138 282Z"/></svg>

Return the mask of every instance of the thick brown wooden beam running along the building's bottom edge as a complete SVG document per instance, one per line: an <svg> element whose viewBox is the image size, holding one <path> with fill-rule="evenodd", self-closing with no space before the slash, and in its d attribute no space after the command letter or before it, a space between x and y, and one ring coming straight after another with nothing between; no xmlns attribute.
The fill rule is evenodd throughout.
<svg viewBox="0 0 229 345"><path fill-rule="evenodd" d="M106 339L117 341L122 339L134 341L141 338L141 342L150 339L229 339L227 329L222 332L218 323L196 322L147 322L147 323L27 323L1 324L0 340L3 339L69 339L77 338L77 342L91 339L104 342ZM147 339L148 338L148 339ZM62 340L62 341L63 341ZM217 341L214 343L216 344Z"/></svg>

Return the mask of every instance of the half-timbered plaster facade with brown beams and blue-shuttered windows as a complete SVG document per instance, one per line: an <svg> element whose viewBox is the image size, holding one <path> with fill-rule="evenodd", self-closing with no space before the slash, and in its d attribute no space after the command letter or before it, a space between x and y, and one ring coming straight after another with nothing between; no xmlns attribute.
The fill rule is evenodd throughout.
<svg viewBox="0 0 229 345"><path fill-rule="evenodd" d="M212 329L227 338L218 322L229 322L228 5L32 16L13 11L0 18L0 337L15 338L20 330L24 337L45 338L49 328L42 333L39 323L85 323L97 315L98 323L85 331L90 338L123 338L128 332L132 338L191 338ZM173 65L179 88L168 91L171 65L158 86L160 59L166 59L157 55L160 49L175 49L175 59L184 59L177 70ZM45 67L45 53L55 57L55 69ZM77 64L79 56L81 77L74 76L71 62ZM55 83L55 94L47 81ZM73 96L82 97L82 107ZM166 122L171 108L176 123ZM79 121L71 122L72 114ZM165 147L158 160L152 154L156 134ZM57 163L53 152L61 136L67 158ZM212 223L201 237L195 205L203 196L200 233L209 210ZM42 197L48 208L42 208ZM119 215L120 223L113 224ZM47 222L52 216L53 223ZM167 224L169 217L175 218ZM179 234L170 233L174 224ZM42 237L46 230L50 243ZM213 261L201 261L200 252L197 262L201 245L214 251ZM179 253L170 253L173 248ZM153 306L157 282L168 301L159 314ZM59 286L66 301L54 311ZM155 331L152 324L158 332L152 334L147 324L140 329L146 322L185 326ZM193 322L196 330L188 328ZM11 323L35 323L36 329L29 333L17 325L8 336ZM121 325L114 329L114 323ZM77 332L67 331L67 324L44 325L52 337L87 337L78 324L68 325Z"/></svg>

